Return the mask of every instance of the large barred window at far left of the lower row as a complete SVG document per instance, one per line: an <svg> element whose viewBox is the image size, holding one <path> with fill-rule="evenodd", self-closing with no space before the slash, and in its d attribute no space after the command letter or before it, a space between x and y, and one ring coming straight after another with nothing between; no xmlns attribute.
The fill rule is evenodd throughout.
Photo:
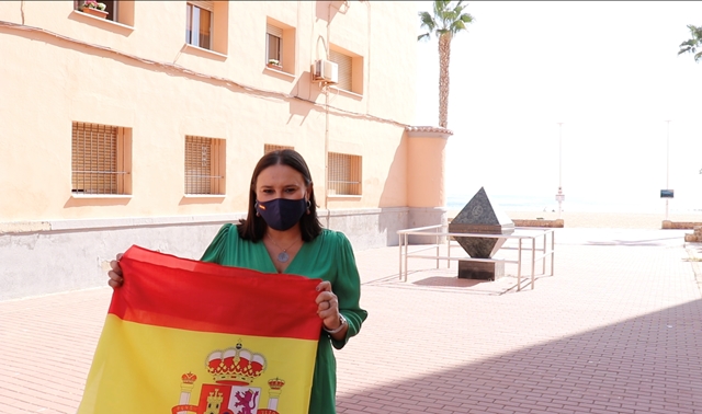
<svg viewBox="0 0 702 414"><path fill-rule="evenodd" d="M129 129L98 124L72 124L73 194L129 194L131 164Z"/></svg>

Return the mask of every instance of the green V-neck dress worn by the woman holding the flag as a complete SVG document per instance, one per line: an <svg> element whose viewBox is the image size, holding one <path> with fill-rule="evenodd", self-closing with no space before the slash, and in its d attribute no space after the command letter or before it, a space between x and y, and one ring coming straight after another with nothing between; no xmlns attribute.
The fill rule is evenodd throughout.
<svg viewBox="0 0 702 414"><path fill-rule="evenodd" d="M231 223L224 225L219 229L203 254L202 261L264 273L278 272L265 245L262 242L254 243L241 239L237 228ZM331 346L341 349L351 336L359 333L367 315L367 312L359 306L361 283L351 243L343 233L324 229L315 240L303 243L284 273L329 280L331 290L339 298L339 310L349 322L349 330L343 341L336 341L321 331L317 346L309 413L333 414L336 413L337 361Z"/></svg>

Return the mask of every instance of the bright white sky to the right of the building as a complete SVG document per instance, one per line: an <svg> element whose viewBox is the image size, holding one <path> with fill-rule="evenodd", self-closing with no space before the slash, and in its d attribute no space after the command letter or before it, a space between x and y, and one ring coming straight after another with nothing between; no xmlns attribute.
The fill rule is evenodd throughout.
<svg viewBox="0 0 702 414"><path fill-rule="evenodd" d="M450 207L484 186L502 207L557 208L561 182L565 211L665 211L672 188L670 211L702 212L702 62L678 56L702 2L467 4L451 50ZM415 125L438 126L433 36L417 62Z"/></svg>

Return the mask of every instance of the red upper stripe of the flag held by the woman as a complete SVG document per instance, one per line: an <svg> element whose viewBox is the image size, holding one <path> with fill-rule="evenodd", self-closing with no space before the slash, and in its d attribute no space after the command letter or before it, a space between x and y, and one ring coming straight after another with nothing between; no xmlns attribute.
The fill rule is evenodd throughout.
<svg viewBox="0 0 702 414"><path fill-rule="evenodd" d="M110 313L124 321L200 332L318 340L316 286L132 246L120 260L124 284Z"/></svg>

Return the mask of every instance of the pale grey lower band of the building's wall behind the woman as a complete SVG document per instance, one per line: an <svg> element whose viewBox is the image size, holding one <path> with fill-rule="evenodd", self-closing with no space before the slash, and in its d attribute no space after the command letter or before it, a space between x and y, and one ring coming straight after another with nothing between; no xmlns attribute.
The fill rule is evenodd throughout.
<svg viewBox="0 0 702 414"><path fill-rule="evenodd" d="M414 211L318 212L322 226L343 231L353 249L362 251L397 245L397 231L407 228ZM110 261L132 244L197 260L223 223L244 216L0 222L0 301L105 286Z"/></svg>

